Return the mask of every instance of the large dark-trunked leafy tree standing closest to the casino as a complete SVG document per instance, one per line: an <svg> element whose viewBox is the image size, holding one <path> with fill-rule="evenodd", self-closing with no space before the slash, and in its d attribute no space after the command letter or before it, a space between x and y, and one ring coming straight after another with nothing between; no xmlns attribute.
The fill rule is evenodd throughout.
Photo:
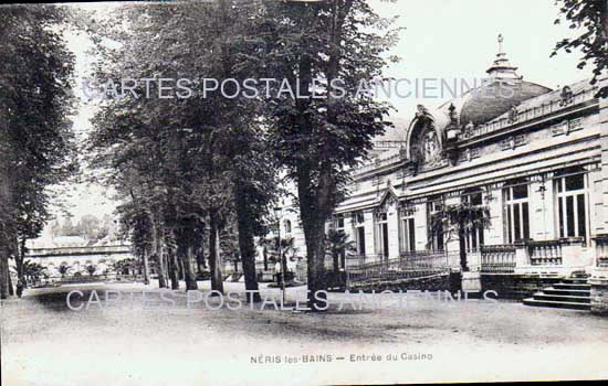
<svg viewBox="0 0 608 386"><path fill-rule="evenodd" d="M346 195L349 169L371 149L371 139L389 125L388 105L367 93L364 84L381 76L381 56L396 42L366 1L268 2L270 18L260 18L254 33L264 39L268 74L284 78L301 97L279 93L266 103L271 143L295 181L307 250L308 307L325 307L325 224ZM315 92L313 94L313 79ZM339 93L334 86L339 86ZM342 95L340 95L342 94Z"/></svg>

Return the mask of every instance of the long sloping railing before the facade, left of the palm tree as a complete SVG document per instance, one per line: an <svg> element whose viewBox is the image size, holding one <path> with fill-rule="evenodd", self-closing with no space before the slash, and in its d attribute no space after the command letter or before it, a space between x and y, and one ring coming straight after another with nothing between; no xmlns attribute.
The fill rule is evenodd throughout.
<svg viewBox="0 0 608 386"><path fill-rule="evenodd" d="M346 267L348 286L378 281L397 281L450 271L444 251L415 251L398 258L364 262Z"/></svg>

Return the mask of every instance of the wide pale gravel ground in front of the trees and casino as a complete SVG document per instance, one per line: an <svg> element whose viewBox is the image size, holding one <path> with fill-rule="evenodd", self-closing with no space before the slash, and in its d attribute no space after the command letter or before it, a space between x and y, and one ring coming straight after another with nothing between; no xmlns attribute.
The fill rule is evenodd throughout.
<svg viewBox="0 0 608 386"><path fill-rule="evenodd" d="M184 283L182 283L184 286ZM28 290L2 301L2 385L287 385L608 378L608 319L517 302L401 303L331 293L325 313L219 307L199 282L160 300L155 285ZM226 283L240 292L243 283ZM72 290L72 311L65 302ZM86 299L95 301L86 309ZM105 290L119 302L105 302ZM141 302L146 290L147 302ZM134 291L133 301L130 291ZM135 291L139 291L136 293ZM287 289L287 305L305 299ZM277 289L263 288L279 302ZM200 299L202 298L202 299ZM401 297L402 299L402 297ZM95 297L92 300L96 300ZM195 300L200 300L193 302ZM224 299L226 300L226 299ZM339 304L343 309L339 310ZM233 308L235 308L235 301ZM258 305L259 307L259 305Z"/></svg>

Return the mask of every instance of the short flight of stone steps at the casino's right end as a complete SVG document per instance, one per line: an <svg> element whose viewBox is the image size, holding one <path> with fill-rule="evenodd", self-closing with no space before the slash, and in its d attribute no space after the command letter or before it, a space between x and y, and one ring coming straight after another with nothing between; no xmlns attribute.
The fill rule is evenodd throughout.
<svg viewBox="0 0 608 386"><path fill-rule="evenodd" d="M591 286L587 277L575 276L560 282L543 288L532 298L524 299L525 305L551 307L570 310L591 309Z"/></svg>

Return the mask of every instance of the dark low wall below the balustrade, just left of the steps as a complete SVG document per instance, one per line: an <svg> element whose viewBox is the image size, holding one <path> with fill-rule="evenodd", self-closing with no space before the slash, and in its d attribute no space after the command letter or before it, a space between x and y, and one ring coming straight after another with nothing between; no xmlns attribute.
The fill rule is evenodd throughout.
<svg viewBox="0 0 608 386"><path fill-rule="evenodd" d="M482 291L496 291L499 299L522 300L545 287L559 282L562 278L541 278L528 275L482 274Z"/></svg>

